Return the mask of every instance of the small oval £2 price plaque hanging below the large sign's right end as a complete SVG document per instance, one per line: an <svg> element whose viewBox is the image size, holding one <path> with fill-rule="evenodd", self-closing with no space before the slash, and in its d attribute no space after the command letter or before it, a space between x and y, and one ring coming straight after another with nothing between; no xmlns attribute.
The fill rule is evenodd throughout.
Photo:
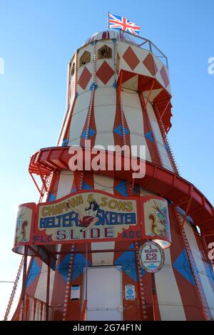
<svg viewBox="0 0 214 335"><path fill-rule="evenodd" d="M139 261L146 272L158 272L165 261L163 249L156 242L146 242L139 249Z"/></svg>

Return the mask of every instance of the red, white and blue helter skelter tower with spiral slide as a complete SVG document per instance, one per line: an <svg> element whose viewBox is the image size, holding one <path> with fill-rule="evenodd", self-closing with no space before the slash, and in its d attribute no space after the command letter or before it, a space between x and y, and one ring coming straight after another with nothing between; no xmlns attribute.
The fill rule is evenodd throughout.
<svg viewBox="0 0 214 335"><path fill-rule="evenodd" d="M76 50L58 146L29 165L43 182L39 205L19 207L14 251L32 257L14 320L214 318L213 206L178 173L170 98L167 58L151 41L104 31ZM85 140L106 153L108 145L146 145L145 177L116 164L71 171L69 147L90 150ZM154 275L138 264L148 239L165 249Z"/></svg>

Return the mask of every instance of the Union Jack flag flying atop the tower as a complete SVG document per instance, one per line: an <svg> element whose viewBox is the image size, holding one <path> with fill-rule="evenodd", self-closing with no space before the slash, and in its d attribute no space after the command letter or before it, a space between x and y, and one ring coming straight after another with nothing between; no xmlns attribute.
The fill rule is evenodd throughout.
<svg viewBox="0 0 214 335"><path fill-rule="evenodd" d="M133 22L129 21L125 17L111 13L108 13L108 27L111 29L128 31L129 33L134 33L135 35L138 35L141 29L140 26L133 24Z"/></svg>

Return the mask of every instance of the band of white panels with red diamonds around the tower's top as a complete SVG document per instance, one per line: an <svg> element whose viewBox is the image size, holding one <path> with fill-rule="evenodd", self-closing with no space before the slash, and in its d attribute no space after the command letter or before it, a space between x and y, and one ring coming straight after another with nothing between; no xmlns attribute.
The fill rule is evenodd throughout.
<svg viewBox="0 0 214 335"><path fill-rule="evenodd" d="M98 43L99 47L102 45ZM104 45L104 42L103 42ZM113 48L113 45L112 45ZM92 48L91 48L92 51ZM81 56L78 55L78 59ZM91 55L93 53L91 52ZM136 75L156 78L156 80L170 93L170 82L168 79L168 68L150 51L137 46L130 46L123 41L118 47L118 58L120 59L120 70L136 73ZM98 87L112 86L116 81L115 64L113 59L97 59L96 60L96 77ZM130 78L128 79L130 81ZM77 91L83 93L88 91L93 83L93 62L78 68ZM130 86L127 83L128 86ZM127 86L126 85L126 86ZM128 88L127 86L127 88Z"/></svg>

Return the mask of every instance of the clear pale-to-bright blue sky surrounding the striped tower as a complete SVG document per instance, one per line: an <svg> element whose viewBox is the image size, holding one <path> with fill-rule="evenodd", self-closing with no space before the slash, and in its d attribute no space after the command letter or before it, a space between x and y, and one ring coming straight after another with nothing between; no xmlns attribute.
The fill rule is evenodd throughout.
<svg viewBox="0 0 214 335"><path fill-rule="evenodd" d="M14 280L11 252L16 206L37 202L29 157L56 145L66 106L66 71L73 51L107 26L107 14L141 26L168 56L173 94L170 143L183 177L214 202L213 0L0 0L1 242L0 280ZM0 319L11 284L0 283Z"/></svg>

